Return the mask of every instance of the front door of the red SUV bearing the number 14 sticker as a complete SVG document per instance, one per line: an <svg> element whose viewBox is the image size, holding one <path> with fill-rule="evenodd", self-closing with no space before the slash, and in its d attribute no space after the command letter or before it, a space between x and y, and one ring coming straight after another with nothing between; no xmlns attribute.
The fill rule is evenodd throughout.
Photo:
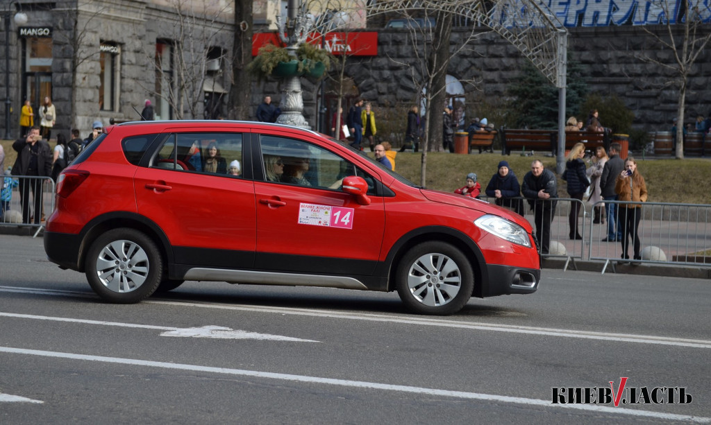
<svg viewBox="0 0 711 425"><path fill-rule="evenodd" d="M338 182L355 174L357 167L303 140L262 134L259 144L265 178L255 179L255 267L370 275L380 255L385 209L380 197L370 197L370 205L361 205L341 190ZM309 161L308 170L304 159ZM270 181L274 180L271 167L279 161L282 165L277 167L283 172L280 169L277 180ZM301 167L300 177L292 175L294 167Z"/></svg>

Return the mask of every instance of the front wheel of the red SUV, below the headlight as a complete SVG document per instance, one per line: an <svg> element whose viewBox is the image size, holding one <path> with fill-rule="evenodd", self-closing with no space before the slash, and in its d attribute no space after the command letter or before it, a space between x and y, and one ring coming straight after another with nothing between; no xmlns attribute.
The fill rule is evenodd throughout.
<svg viewBox="0 0 711 425"><path fill-rule="evenodd" d="M395 280L400 299L417 314L456 313L474 289L474 272L466 255L439 241L407 251L397 265Z"/></svg>

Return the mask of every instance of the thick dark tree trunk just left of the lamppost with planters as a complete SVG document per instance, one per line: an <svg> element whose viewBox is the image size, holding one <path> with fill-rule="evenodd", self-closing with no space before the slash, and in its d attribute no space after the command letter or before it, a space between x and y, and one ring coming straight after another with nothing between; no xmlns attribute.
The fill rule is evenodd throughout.
<svg viewBox="0 0 711 425"><path fill-rule="evenodd" d="M228 118L248 120L252 114L252 1L235 0L235 54L232 56L232 81Z"/></svg>

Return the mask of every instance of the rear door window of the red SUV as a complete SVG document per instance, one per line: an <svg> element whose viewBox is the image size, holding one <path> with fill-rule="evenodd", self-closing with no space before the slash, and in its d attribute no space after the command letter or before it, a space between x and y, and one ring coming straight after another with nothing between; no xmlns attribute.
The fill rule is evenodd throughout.
<svg viewBox="0 0 711 425"><path fill-rule="evenodd" d="M169 170L240 177L242 175L242 134L171 134L159 148L152 166Z"/></svg>

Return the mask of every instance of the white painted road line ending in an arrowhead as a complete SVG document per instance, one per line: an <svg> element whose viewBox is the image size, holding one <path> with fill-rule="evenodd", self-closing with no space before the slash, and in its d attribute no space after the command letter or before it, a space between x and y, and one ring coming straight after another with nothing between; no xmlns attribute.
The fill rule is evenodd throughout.
<svg viewBox="0 0 711 425"><path fill-rule="evenodd" d="M90 325L119 326L122 328L158 329L159 331L166 331L164 333L161 333L161 336L178 336L178 337L183 337L183 338L190 337L190 338L221 338L221 339L258 339L258 340L263 340L263 341L292 341L292 342L309 342L309 343L319 342L319 341L313 341L310 339L292 338L291 336L271 335L269 333L247 332L247 331L240 331L239 329L233 330L230 328L225 328L223 326L202 326L201 328L175 328L173 326L141 325L141 324L121 323L121 322L115 322L115 321L72 319L69 317L37 316L35 314L6 313L4 311L0 311L0 316L15 317L18 319L68 321L71 323L90 324Z"/></svg>

